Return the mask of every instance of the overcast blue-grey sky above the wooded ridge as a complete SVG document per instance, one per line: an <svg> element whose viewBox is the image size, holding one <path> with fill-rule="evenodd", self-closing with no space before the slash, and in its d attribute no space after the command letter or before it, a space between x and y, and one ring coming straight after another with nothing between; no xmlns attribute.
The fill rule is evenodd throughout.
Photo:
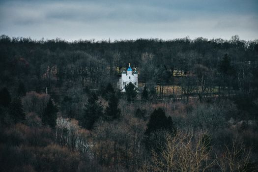
<svg viewBox="0 0 258 172"><path fill-rule="evenodd" d="M258 39L258 0L0 0L0 35Z"/></svg>

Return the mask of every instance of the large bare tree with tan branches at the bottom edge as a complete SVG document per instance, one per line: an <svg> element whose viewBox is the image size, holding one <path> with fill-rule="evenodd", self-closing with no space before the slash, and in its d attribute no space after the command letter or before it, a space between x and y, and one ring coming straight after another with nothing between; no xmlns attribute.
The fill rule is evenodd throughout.
<svg viewBox="0 0 258 172"><path fill-rule="evenodd" d="M203 135L194 138L192 132L179 131L174 137L166 135L160 152L152 151L151 162L143 165L145 172L205 172L215 164L211 147L203 142Z"/></svg>

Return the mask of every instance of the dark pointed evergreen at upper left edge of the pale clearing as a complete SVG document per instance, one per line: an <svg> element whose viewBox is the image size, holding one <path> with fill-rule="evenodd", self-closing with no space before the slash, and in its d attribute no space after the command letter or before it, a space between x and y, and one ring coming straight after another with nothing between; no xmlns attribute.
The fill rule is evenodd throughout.
<svg viewBox="0 0 258 172"><path fill-rule="evenodd" d="M57 124L57 108L54 105L51 98L48 101L47 107L42 115L42 122L45 125L49 125L51 128L55 128Z"/></svg>

